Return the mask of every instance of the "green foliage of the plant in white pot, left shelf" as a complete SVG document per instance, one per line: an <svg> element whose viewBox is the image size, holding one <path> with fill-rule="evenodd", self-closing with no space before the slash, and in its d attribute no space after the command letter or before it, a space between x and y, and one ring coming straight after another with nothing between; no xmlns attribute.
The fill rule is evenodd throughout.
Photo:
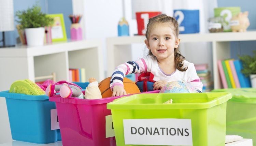
<svg viewBox="0 0 256 146"><path fill-rule="evenodd" d="M54 19L41 12L37 4L27 10L17 11L15 16L19 19L15 21L20 24L20 29L51 26L54 23Z"/></svg>

